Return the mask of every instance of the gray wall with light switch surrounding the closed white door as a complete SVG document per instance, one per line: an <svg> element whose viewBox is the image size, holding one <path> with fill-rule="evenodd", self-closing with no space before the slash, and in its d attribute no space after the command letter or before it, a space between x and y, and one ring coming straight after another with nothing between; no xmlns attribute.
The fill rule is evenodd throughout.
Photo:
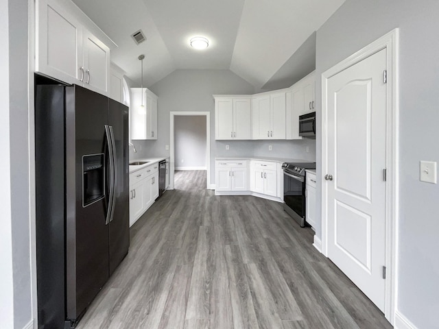
<svg viewBox="0 0 439 329"><path fill-rule="evenodd" d="M439 1L347 0L317 32L316 109L321 73L395 27L399 65L399 296L418 328L439 328L439 185L419 182L419 160L439 161ZM321 162L322 143L317 140ZM318 190L324 173L318 167ZM320 205L318 194L317 204ZM317 228L321 236L320 227Z"/></svg>

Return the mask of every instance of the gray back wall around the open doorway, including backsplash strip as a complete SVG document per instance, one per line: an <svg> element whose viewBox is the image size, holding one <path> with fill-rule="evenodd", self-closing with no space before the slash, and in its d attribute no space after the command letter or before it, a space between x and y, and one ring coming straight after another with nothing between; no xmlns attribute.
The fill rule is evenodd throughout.
<svg viewBox="0 0 439 329"><path fill-rule="evenodd" d="M215 183L215 156L272 156L316 160L316 141L215 141L215 106L212 95L252 94L254 88L231 71L174 71L150 87L158 96L157 141L133 141L133 158L169 156L169 112L211 112L211 183ZM230 149L226 150L226 145ZM272 145L272 151L268 151ZM309 152L307 153L307 147ZM176 163L176 166L178 164Z"/></svg>

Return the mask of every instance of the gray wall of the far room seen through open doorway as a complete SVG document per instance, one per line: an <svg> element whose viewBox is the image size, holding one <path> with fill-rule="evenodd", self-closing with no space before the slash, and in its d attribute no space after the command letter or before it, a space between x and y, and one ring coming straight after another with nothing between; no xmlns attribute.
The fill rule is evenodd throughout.
<svg viewBox="0 0 439 329"><path fill-rule="evenodd" d="M174 140L176 167L206 167L205 116L177 115Z"/></svg>

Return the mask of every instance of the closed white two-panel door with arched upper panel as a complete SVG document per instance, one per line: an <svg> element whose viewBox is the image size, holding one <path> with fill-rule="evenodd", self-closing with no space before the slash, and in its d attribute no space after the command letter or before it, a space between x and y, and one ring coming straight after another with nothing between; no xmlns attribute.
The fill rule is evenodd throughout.
<svg viewBox="0 0 439 329"><path fill-rule="evenodd" d="M381 310L385 304L386 50L327 86L328 256Z"/></svg>

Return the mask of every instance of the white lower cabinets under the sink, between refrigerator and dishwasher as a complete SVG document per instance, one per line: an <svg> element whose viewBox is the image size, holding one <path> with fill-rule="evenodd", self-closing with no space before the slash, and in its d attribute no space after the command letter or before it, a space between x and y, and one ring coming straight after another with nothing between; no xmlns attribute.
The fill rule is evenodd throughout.
<svg viewBox="0 0 439 329"><path fill-rule="evenodd" d="M158 197L158 163L130 173L130 226Z"/></svg>

